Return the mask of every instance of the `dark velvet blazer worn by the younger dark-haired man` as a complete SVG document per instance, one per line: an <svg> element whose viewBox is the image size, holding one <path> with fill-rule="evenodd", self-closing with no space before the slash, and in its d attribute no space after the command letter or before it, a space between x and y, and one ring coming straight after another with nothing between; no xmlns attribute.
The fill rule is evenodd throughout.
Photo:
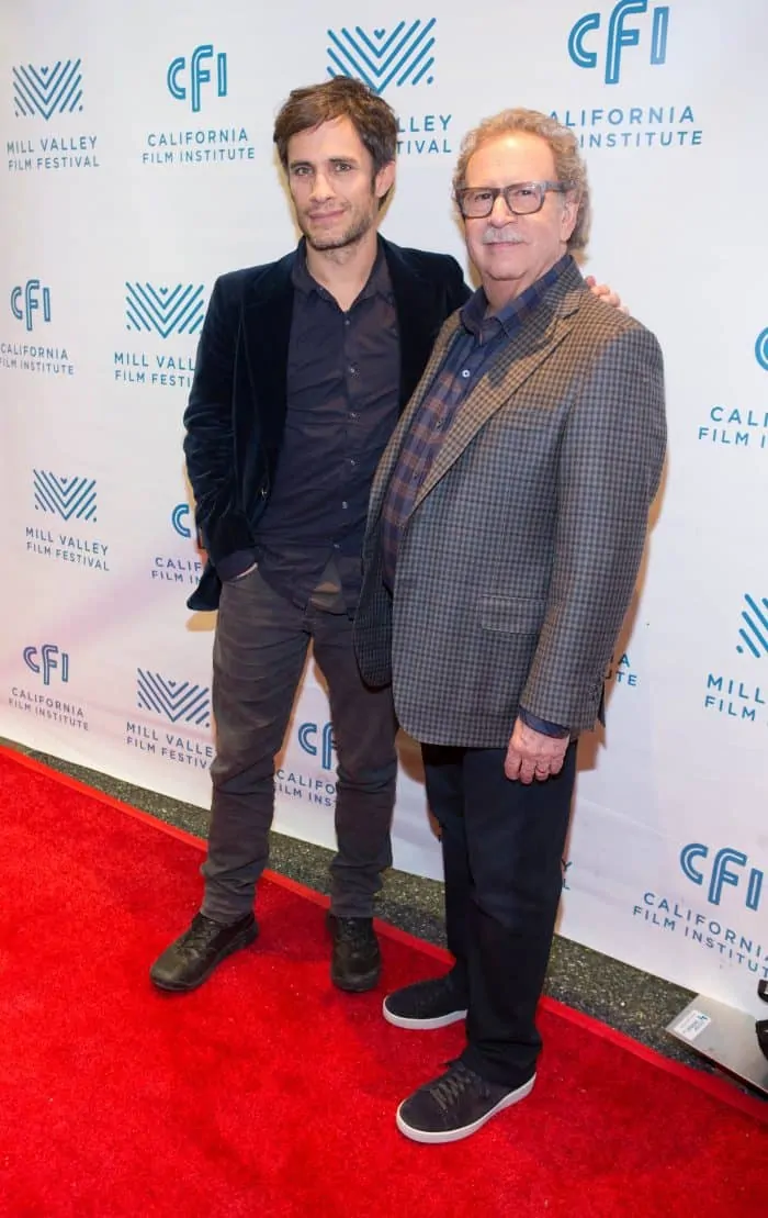
<svg viewBox="0 0 768 1218"><path fill-rule="evenodd" d="M459 263L379 239L387 259L400 340L400 412L443 322L469 296ZM190 609L215 609L217 563L253 547L280 454L286 415L296 251L217 279L203 324L184 452L208 561Z"/></svg>

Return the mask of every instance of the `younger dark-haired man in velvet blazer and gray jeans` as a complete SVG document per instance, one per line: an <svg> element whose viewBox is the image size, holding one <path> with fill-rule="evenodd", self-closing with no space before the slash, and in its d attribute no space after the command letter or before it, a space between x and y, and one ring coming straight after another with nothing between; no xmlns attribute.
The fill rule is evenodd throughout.
<svg viewBox="0 0 768 1218"><path fill-rule="evenodd" d="M202 909L152 966L162 989L194 989L256 938L274 756L310 642L338 756L331 977L346 990L379 980L372 912L392 861L397 725L352 642L365 516L435 339L470 295L454 258L377 235L397 138L391 107L357 80L295 90L274 140L303 239L223 275L208 306L185 453L208 555L189 604L219 610L217 756Z"/></svg>

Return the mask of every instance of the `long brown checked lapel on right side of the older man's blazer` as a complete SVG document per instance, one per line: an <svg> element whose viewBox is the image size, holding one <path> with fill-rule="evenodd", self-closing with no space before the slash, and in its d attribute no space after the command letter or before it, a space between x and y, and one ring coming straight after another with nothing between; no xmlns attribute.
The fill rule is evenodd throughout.
<svg viewBox="0 0 768 1218"><path fill-rule="evenodd" d="M562 278L570 279L567 273ZM581 281L581 275L578 279ZM486 423L510 402L528 376L571 333L572 314L578 309L579 295L581 292L570 292L565 297L561 296L560 301L555 302L554 309L551 303L548 307L544 301L533 317L512 336L480 384L459 407L445 440L419 488L411 512L448 473Z"/></svg>

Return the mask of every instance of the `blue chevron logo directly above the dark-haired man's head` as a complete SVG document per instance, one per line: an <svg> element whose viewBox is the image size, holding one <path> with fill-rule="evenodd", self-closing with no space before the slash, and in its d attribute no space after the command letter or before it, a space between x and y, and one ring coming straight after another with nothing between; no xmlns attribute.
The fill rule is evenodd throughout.
<svg viewBox="0 0 768 1218"><path fill-rule="evenodd" d="M410 26L400 21L394 29L375 29L370 34L361 26L342 27L338 33L329 29L327 74L357 77L376 94L382 94L393 82L398 88L432 84L435 26L432 17Z"/></svg>

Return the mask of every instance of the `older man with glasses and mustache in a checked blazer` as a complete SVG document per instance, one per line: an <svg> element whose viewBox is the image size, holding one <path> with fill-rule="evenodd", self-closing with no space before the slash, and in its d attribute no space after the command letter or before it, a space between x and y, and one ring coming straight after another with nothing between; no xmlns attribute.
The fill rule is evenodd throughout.
<svg viewBox="0 0 768 1218"><path fill-rule="evenodd" d="M397 1114L465 1138L534 1084L576 737L600 714L666 442L658 343L571 256L589 192L573 134L511 110L454 179L482 286L443 326L379 468L355 647L393 682L442 829L450 972L385 1000L466 1046Z"/></svg>

